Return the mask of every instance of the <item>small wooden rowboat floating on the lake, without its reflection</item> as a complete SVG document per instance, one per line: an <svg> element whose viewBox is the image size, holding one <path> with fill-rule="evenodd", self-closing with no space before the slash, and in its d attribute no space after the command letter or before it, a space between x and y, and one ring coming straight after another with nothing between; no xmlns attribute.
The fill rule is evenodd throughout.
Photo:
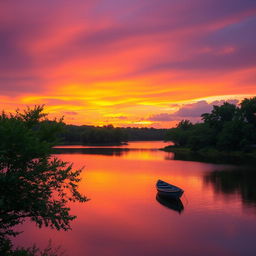
<svg viewBox="0 0 256 256"><path fill-rule="evenodd" d="M172 198L176 198L176 199L180 198L184 192L184 190L182 190L181 188L171 185L162 180L157 181L156 188L157 188L159 195L172 197Z"/></svg>

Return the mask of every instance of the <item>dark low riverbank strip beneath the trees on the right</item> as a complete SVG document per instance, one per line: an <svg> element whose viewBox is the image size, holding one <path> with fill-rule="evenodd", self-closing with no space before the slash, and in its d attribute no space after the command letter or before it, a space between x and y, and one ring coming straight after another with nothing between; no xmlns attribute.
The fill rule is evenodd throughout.
<svg viewBox="0 0 256 256"><path fill-rule="evenodd" d="M193 151L190 148L173 145L167 146L161 150L174 153L175 160L230 164L256 163L256 151L218 151L212 148Z"/></svg>

